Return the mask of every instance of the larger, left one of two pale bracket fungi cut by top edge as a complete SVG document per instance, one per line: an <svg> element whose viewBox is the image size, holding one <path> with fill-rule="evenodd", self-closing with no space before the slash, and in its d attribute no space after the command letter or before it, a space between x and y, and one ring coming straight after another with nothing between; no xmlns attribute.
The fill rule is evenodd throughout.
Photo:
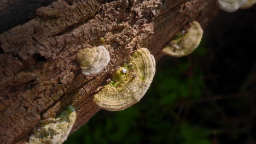
<svg viewBox="0 0 256 144"><path fill-rule="evenodd" d="M218 0L219 7L229 13L239 9L247 0Z"/></svg>

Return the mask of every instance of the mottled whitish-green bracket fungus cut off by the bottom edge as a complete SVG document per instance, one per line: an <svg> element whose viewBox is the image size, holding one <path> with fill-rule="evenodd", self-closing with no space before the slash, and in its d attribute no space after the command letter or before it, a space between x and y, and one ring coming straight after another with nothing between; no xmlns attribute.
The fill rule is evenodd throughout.
<svg viewBox="0 0 256 144"><path fill-rule="evenodd" d="M67 139L76 118L77 113L74 108L71 105L67 106L57 118L40 121L27 144L61 144Z"/></svg>

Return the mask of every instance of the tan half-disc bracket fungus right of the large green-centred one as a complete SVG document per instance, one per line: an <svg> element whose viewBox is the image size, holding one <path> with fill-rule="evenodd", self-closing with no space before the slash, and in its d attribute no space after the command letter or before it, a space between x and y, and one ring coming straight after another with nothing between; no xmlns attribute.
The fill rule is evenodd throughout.
<svg viewBox="0 0 256 144"><path fill-rule="evenodd" d="M200 24L196 21L190 22L187 32L178 33L176 38L162 49L162 52L174 57L187 56L200 44L202 34L203 30Z"/></svg>

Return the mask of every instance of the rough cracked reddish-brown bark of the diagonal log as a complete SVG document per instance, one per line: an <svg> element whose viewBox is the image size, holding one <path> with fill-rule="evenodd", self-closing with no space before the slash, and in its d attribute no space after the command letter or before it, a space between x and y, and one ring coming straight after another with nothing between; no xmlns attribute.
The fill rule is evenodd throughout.
<svg viewBox="0 0 256 144"><path fill-rule="evenodd" d="M215 0L54 1L0 4L0 143L25 142L40 120L70 104L77 130L100 110L92 95L133 51L147 47L158 60L184 25L205 27L219 10ZM86 77L75 54L98 45L109 50L110 63Z"/></svg>

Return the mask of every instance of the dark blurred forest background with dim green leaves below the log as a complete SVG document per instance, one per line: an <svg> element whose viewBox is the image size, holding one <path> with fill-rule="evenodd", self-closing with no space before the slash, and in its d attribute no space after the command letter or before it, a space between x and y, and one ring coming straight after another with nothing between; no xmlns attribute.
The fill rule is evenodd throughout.
<svg viewBox="0 0 256 144"><path fill-rule="evenodd" d="M164 57L148 92L65 143L256 143L256 7L221 11L192 55Z"/></svg>

